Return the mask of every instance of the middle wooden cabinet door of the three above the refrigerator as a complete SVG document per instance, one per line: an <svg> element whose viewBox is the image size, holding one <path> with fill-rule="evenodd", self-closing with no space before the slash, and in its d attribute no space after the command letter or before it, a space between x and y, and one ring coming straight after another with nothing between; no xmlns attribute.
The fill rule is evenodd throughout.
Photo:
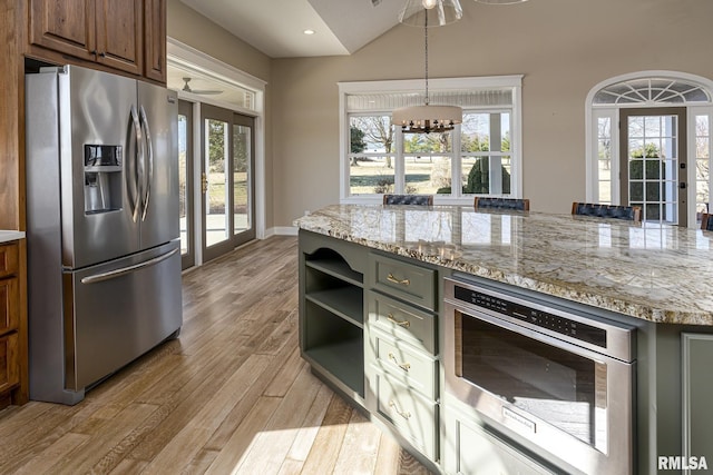
<svg viewBox="0 0 713 475"><path fill-rule="evenodd" d="M97 62L140 76L144 72L144 3L96 0Z"/></svg>

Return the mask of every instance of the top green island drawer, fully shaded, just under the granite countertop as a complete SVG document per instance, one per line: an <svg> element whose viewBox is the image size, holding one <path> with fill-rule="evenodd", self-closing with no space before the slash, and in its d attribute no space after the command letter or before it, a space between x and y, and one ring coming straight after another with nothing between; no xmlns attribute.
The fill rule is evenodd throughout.
<svg viewBox="0 0 713 475"><path fill-rule="evenodd" d="M370 259L374 289L436 310L436 270L375 254Z"/></svg>

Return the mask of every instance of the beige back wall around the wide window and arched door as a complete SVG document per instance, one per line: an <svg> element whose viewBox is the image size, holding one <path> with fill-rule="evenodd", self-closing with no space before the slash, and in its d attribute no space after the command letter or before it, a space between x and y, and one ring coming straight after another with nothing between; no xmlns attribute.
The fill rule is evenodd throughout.
<svg viewBox="0 0 713 475"><path fill-rule="evenodd" d="M429 31L431 77L525 75L524 194L535 210L585 198L585 99L642 70L713 78L711 0L461 0L461 21ZM423 32L397 26L350 57L273 61L275 226L339 200L338 81L423 76Z"/></svg>

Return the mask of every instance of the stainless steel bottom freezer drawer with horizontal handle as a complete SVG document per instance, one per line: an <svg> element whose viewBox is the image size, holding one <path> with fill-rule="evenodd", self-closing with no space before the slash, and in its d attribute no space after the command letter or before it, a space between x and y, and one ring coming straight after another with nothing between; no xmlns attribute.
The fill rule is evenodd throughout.
<svg viewBox="0 0 713 475"><path fill-rule="evenodd" d="M64 279L66 389L82 390L183 324L177 241Z"/></svg>

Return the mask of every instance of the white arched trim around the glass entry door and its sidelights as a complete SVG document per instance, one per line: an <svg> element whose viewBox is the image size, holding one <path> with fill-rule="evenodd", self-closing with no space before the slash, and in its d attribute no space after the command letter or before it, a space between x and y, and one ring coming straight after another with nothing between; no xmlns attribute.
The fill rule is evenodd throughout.
<svg viewBox="0 0 713 475"><path fill-rule="evenodd" d="M597 157L598 157L598 148L597 148L597 125L596 119L598 117L611 117L612 118L612 204L618 205L621 204L621 179L619 179L619 110L626 108L646 108L646 107L662 107L661 103L627 103L627 105L594 105L594 96L603 88L607 86L612 86L617 82L633 80L633 79L646 79L646 78L671 78L671 79L681 79L690 82L697 83L709 90L709 92L713 92L713 81L704 78L702 76L695 76L686 72L677 72L677 71L666 71L666 70L653 70L653 71L638 71L632 72L627 75L616 76L614 78L605 79L604 81L594 86L589 93L587 93L587 98L585 99L585 166L586 166L586 200L590 202L596 202L598 199L598 172L597 172ZM677 105L671 103L671 107L676 107ZM696 115L702 115L701 112L707 111L709 120L711 127L713 127L713 106L710 103L684 103L678 105L686 108L686 119L688 125L694 123L694 117ZM713 201L713 140L711 140L710 147L712 148L709 154L711 160L711 170L712 172L709 184L709 200ZM688 147L688 156L686 160L688 162L688 192L687 192L687 221L690 228L695 228L696 225L696 211L695 211L695 167L691 166L694 164L694 160L691 159L692 150L695 150L695 127L687 127L687 136L686 144ZM695 159L695 157L693 157ZM693 185L692 185L693 184ZM711 205L711 202L709 204ZM713 206L711 206L713 209Z"/></svg>

